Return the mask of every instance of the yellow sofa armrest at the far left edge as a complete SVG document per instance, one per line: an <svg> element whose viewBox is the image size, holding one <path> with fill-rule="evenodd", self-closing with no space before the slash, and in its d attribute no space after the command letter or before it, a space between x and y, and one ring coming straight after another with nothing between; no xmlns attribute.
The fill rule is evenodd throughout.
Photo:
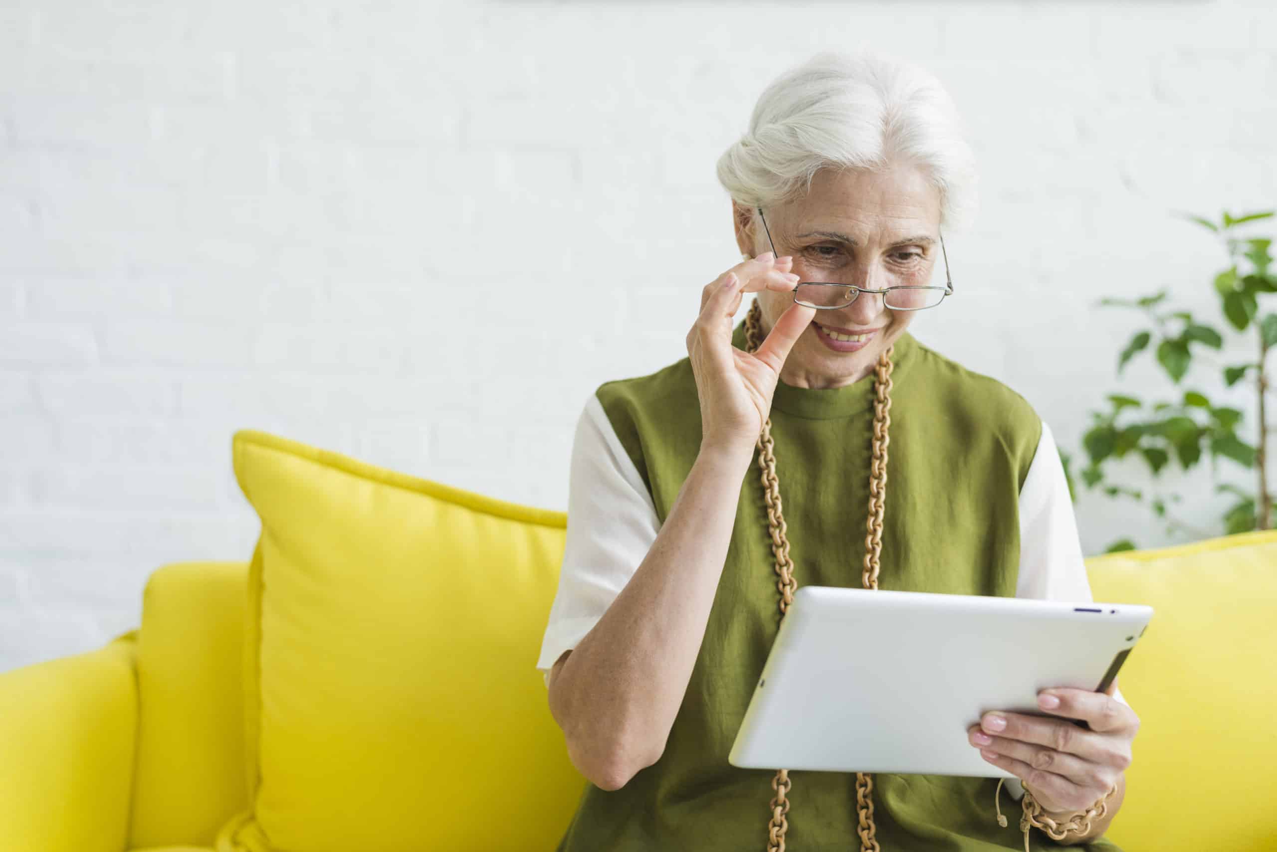
<svg viewBox="0 0 1277 852"><path fill-rule="evenodd" d="M0 838L6 849L123 852L137 745L137 630L0 673Z"/></svg>

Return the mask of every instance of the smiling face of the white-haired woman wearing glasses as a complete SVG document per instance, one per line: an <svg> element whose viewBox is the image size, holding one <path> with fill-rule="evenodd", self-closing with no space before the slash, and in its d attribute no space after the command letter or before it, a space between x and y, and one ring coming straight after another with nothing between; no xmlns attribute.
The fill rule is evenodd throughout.
<svg viewBox="0 0 1277 852"><path fill-rule="evenodd" d="M733 204L736 237L751 258L770 251L755 208ZM882 290L928 284L940 256L940 193L912 166L880 172L822 170L799 200L762 209L780 256L793 255L801 281L829 281ZM944 282L935 282L942 286ZM793 304L793 293L756 295L762 330ZM917 311L893 311L881 295L862 293L845 307L816 311L794 343L780 378L797 388L838 388L873 371L879 355L902 334ZM840 334L868 334L840 342Z"/></svg>

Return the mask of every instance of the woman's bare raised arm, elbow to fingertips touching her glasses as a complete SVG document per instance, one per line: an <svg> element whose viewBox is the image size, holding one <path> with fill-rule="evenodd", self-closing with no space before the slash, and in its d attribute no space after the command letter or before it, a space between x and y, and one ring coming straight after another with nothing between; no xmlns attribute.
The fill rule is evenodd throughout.
<svg viewBox="0 0 1277 852"><path fill-rule="evenodd" d="M623 787L660 759L683 703L727 560L741 482L780 367L816 311L793 302L755 352L732 346L732 320L746 292L792 292L798 284L792 264L793 258L769 251L701 290L701 311L687 333L700 452L633 575L547 679L568 756L604 790Z"/></svg>

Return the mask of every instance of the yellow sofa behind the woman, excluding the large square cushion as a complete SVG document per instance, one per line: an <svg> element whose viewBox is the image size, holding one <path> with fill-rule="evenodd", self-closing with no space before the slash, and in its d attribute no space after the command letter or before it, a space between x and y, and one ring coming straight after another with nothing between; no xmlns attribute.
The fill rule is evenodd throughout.
<svg viewBox="0 0 1277 852"><path fill-rule="evenodd" d="M1143 728L1110 837L1129 852L1277 849L1277 532L1102 556L1088 568L1097 599L1157 610L1121 675ZM0 849L212 847L218 826L249 805L246 575L244 562L167 565L147 583L139 629L0 673ZM538 681L539 639L526 636L527 677ZM552 723L543 728L561 741ZM450 777L455 795L465 772ZM526 826L525 848L553 848L581 783L559 784L562 806ZM492 816L501 819L499 805Z"/></svg>

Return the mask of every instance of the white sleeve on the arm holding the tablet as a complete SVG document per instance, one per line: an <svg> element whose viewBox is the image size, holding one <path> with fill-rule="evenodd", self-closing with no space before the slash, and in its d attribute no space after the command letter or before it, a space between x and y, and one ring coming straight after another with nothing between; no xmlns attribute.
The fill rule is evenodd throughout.
<svg viewBox="0 0 1277 852"><path fill-rule="evenodd" d="M1091 582L1078 537L1078 522L1069 497L1069 482L1055 435L1046 421L1042 437L1020 488L1020 566L1015 597L1091 603ZM1121 690L1114 698L1128 704ZM1008 790L1019 798L1024 788L1008 779Z"/></svg>

